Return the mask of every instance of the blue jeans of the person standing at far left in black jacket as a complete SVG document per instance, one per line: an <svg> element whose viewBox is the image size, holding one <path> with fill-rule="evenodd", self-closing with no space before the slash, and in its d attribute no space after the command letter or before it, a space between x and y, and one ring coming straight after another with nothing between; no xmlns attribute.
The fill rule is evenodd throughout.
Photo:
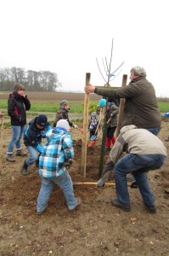
<svg viewBox="0 0 169 256"><path fill-rule="evenodd" d="M14 151L14 146L16 147L16 150L21 149L21 138L24 133L25 125L12 125L12 139L10 143L8 143L8 149L7 149L7 154L13 154Z"/></svg>

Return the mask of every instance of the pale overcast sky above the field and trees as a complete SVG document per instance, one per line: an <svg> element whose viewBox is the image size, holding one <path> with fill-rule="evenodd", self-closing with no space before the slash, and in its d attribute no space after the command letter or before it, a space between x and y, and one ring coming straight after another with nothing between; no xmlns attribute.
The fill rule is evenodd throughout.
<svg viewBox="0 0 169 256"><path fill-rule="evenodd" d="M111 84L142 66L157 96L169 96L169 15L166 0L1 0L0 67L48 70L58 74L63 90L83 91L85 74L104 84L102 58L111 70L122 61ZM106 76L105 76L106 78ZM129 82L129 80L128 80Z"/></svg>

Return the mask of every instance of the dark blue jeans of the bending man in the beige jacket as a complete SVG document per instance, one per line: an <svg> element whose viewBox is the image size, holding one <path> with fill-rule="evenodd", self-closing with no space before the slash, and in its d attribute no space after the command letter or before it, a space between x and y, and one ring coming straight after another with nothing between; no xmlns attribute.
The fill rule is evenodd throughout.
<svg viewBox="0 0 169 256"><path fill-rule="evenodd" d="M117 200L130 205L127 189L127 173L133 174L145 205L155 205L153 192L149 187L146 172L163 166L166 156L161 154L127 154L114 167Z"/></svg>

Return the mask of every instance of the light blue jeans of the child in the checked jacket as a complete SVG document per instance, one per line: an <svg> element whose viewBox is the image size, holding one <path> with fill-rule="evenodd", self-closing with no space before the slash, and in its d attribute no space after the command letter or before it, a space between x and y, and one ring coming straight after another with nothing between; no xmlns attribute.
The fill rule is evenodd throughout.
<svg viewBox="0 0 169 256"><path fill-rule="evenodd" d="M42 177L41 189L37 197L37 212L42 212L48 206L54 184L57 184L64 192L69 209L76 207L77 201L73 191L73 183L69 172L66 171L59 177Z"/></svg>

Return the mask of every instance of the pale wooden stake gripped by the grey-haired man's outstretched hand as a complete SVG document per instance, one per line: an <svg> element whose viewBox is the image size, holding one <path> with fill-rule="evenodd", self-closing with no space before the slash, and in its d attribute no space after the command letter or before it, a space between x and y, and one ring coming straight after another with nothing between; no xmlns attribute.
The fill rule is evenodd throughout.
<svg viewBox="0 0 169 256"><path fill-rule="evenodd" d="M90 84L91 73L86 73L86 86ZM84 113L83 113L83 134L82 134L82 164L81 174L86 177L87 165L87 130L88 130L88 106L89 106L89 93L85 92L84 97Z"/></svg>

